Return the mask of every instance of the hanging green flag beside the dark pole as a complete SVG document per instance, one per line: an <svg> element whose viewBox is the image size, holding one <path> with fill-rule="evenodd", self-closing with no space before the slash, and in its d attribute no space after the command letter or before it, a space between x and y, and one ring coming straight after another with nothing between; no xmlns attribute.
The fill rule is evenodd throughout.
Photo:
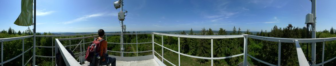
<svg viewBox="0 0 336 66"><path fill-rule="evenodd" d="M21 0L21 13L14 24L19 26L33 25L33 0Z"/></svg>

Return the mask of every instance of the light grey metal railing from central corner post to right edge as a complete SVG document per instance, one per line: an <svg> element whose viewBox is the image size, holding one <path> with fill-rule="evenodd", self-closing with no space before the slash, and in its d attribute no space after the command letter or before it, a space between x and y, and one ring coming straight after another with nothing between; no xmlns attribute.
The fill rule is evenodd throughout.
<svg viewBox="0 0 336 66"><path fill-rule="evenodd" d="M154 35L161 35L162 40L163 40L163 36L171 36L171 37L178 37L178 52L171 50L169 48L166 48L163 46L163 41L162 41L162 45L155 43L154 42ZM288 39L288 38L272 38L272 37L261 37L261 36L254 36L254 35L217 35L217 36L201 36L201 35L175 35L175 34L164 34L164 33L156 33L153 32L152 34L152 41L153 41L153 50L154 50L154 44L161 46L162 47L162 55L160 55L159 53L157 53L155 50L153 51L153 56L154 59L162 66L165 66L165 64L163 63L163 60L167 61L168 63L174 65L173 63L171 63L170 61L168 61L167 59L165 59L163 57L163 48L172 51L174 53L178 54L178 66L180 65L180 55L183 56L187 56L187 57L192 57L192 58L199 58L199 59L209 59L211 60L211 66L213 66L213 60L215 59L226 59L226 58L232 58L232 57L237 57L237 56L242 56L244 55L244 66L247 66L247 57L251 57L252 59L255 59L261 63L270 65L270 66L280 66L281 63L281 43L295 43L296 45L296 50L297 50L297 55L298 55L298 60L299 60L299 65L300 66L309 66L308 61L305 57L305 55L303 54L303 51L299 45L299 43L317 43L317 42L323 42L323 52L322 52L322 63L320 64L316 64L316 65L311 65L311 66L319 66L319 65L323 65L327 62L330 62L331 60L334 60L336 57L329 59L327 61L324 61L324 46L325 46L325 42L326 41L334 41L336 40L335 38L318 38L318 39ZM187 54L183 54L180 53L180 38L198 38L198 39L211 39L211 57L199 57L199 56L191 56L191 55L187 55ZM213 39L228 39L228 38L244 38L244 52L243 54L238 54L238 55L233 55L233 56L227 56L227 57L218 57L218 58L214 58L213 57ZM259 60L251 55L248 54L247 49L248 49L248 38L252 38L252 39L258 39L258 40L263 40L263 41L271 41L271 42L278 42L278 64L274 65L274 64L270 64L267 63L265 61ZM161 58L162 61L160 61L155 55L154 53L158 54Z"/></svg>

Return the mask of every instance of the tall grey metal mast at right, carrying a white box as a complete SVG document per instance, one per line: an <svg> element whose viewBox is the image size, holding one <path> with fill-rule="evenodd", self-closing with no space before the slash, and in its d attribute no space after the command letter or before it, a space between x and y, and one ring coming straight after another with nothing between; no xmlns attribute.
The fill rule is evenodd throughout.
<svg viewBox="0 0 336 66"><path fill-rule="evenodd" d="M311 31L311 38L316 38L316 0L311 0L311 13L313 14L313 24ZM311 44L311 65L316 63L316 43Z"/></svg>

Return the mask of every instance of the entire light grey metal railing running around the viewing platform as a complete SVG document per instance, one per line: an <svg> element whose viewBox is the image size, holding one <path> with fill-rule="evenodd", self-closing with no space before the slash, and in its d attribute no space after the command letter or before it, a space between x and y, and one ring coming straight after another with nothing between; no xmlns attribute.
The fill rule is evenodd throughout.
<svg viewBox="0 0 336 66"><path fill-rule="evenodd" d="M183 55L183 56L187 56L187 57L192 57L192 58L199 58L199 59L209 59L211 60L211 66L213 66L213 60L216 60L216 59L226 59L226 58L232 58L232 57L237 57L237 56L242 56L244 55L244 66L247 65L247 57L250 57L252 59L255 59L261 63L264 63L264 64L267 64L267 65L270 65L270 66L280 66L280 58L281 58L281 43L295 43L296 45L296 50L297 50L297 55L298 55L298 60L299 60L299 65L300 66L307 66L309 65L303 52L302 52L302 49L300 47L300 43L317 43L317 42L323 42L323 52L322 52L322 63L319 63L319 64L316 64L316 65L311 65L311 66L319 66L319 65L323 65L327 62L330 62L334 59L336 59L336 57L332 58L332 59L329 59L327 61L324 61L324 47L325 47L325 42L327 41L334 41L336 40L336 38L318 38L318 39L288 39L288 38L272 38L272 37L261 37L261 36L253 36L253 35L220 35L220 36L201 36L201 35L175 35L175 34L164 34L164 33L156 33L156 32L152 32L152 33L126 33L126 34L123 34L123 35L136 35L136 40L137 40L137 35L138 34L152 34L152 42L145 42L145 43L109 43L108 44L148 44L148 43L152 43L152 50L149 50L149 51L138 51L138 47L137 48L137 51L136 52L119 52L119 51L110 51L108 50L109 52L117 52L117 53L143 53L143 52L151 52L152 51L152 55L147 55L147 56L138 56L138 54L136 55L136 57L120 57L120 56L113 56L113 55L109 55L111 57L116 57L117 60L119 61L139 61L139 60L148 60L148 59L154 59L157 61L158 64L162 65L162 66L165 66L165 64L163 63L163 60L167 61L168 63L174 65L173 63L171 63L170 61L168 61L167 59L164 58L163 56L163 49L167 49L169 51L172 51L174 53L177 53L178 54L178 66L180 66L180 55ZM91 43L91 42L87 42L85 43L84 39L86 38L93 38L93 37L98 37L98 36L89 36L89 37L84 37L84 35L94 35L94 34L80 34L80 35L48 35L48 36L36 36L36 37L52 37L52 39L54 37L68 37L68 36L83 36L83 37L79 37L79 38L67 38L67 39L55 39L55 46L53 46L53 43L52 43L52 47L46 47L46 46L36 46L36 47L41 47L41 48L55 48L55 53L56 52L60 52L62 54L62 56L64 56L64 60L66 61L67 65L71 65L71 66L77 66L77 65L80 65L75 58L72 58L72 56L70 55L70 53L68 51L66 51L65 47L71 47L71 46L77 46L77 45L83 45L83 44L88 44L88 43ZM121 34L106 34L106 35L121 35ZM178 51L174 51L174 50L171 50L167 47L164 47L163 46L163 40L162 40L162 45L158 44L158 43L155 43L154 42L154 35L161 35L161 39L163 39L163 36L171 36L171 37L178 37ZM23 63L22 65L23 66L26 66L27 63L34 57L32 56L25 64L24 64L24 53L26 53L27 51L31 50L33 47L29 48L28 50L24 51L24 39L25 38L31 38L33 36L24 36L24 37L15 37L15 38L3 38L3 39L0 39L1 41L1 63L0 65L3 66L3 64L9 62L9 61L12 61L13 59L16 59L17 57L19 56L23 56ZM180 38L197 38L197 39L211 39L211 57L199 57L199 56L192 56L192 55L187 55L187 54L183 54L183 53L180 53ZM227 57L218 57L218 58L214 58L213 57L213 39L228 39L228 38L244 38L244 52L242 54L238 54L238 55L233 55L233 56L227 56ZM248 49L248 38L251 38L251 39L257 39L257 40L263 40L263 41L271 41L271 42L278 42L278 64L275 65L275 64L270 64L270 63L267 63L265 61L262 61L262 60L259 60L251 55L248 54L247 52L247 49ZM60 41L71 41L71 40L78 40L78 39L83 39L83 43L80 43L80 44L75 44L75 45L68 45L68 46L63 46ZM106 39L107 39L107 36L106 36ZM6 60L3 62L3 45L4 43L3 42L7 42L7 41L13 41L13 40L22 40L23 42L23 51L20 55L12 58L12 59L9 59L9 60ZM52 40L53 42L53 40ZM154 50L154 45L158 45L158 46L161 46L162 48L162 54L160 55L159 53L157 53L155 50ZM83 62L83 57L84 54L85 54L85 47L80 47L81 51L79 53L75 53L75 57L78 57L78 59L81 59L80 61ZM83 48L83 49L82 49ZM58 51L59 50L59 51ZM53 56L53 50L52 50L52 56L49 57L49 56L36 56L36 57L45 57L45 58L55 58L55 56ZM155 55L154 53L158 54L162 59L162 61L160 61ZM77 60L78 60L77 59ZM35 60L33 60L35 61ZM52 60L54 61L54 60ZM85 60L84 60L85 61ZM176 65L174 65L176 66Z"/></svg>

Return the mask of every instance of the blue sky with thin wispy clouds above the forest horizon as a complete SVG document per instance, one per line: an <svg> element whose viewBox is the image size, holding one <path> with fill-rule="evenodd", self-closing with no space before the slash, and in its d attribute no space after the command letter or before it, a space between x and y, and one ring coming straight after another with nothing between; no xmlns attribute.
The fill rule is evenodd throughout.
<svg viewBox="0 0 336 66"><path fill-rule="evenodd" d="M23 31L14 23L21 0L0 2L0 29ZM117 0L37 0L37 32L121 31ZM317 30L336 26L336 0L317 1ZM220 27L269 31L274 25L305 26L309 0L124 0L126 31L201 30ZM33 27L33 26L30 26Z"/></svg>

